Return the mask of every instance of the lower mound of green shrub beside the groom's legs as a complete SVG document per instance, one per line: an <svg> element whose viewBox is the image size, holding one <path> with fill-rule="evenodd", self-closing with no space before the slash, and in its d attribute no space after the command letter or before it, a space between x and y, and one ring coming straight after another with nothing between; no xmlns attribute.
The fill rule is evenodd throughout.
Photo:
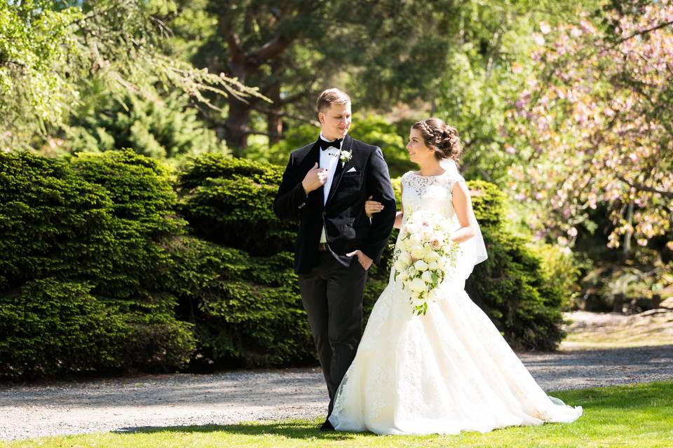
<svg viewBox="0 0 673 448"><path fill-rule="evenodd" d="M193 237L172 241L182 318L196 323L192 367L297 365L313 360L292 255L254 258Z"/></svg>

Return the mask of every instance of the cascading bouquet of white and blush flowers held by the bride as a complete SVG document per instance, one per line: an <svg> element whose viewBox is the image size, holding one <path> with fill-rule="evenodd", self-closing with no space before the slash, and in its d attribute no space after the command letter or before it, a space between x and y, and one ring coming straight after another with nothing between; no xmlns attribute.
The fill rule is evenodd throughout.
<svg viewBox="0 0 673 448"><path fill-rule="evenodd" d="M414 314L426 314L428 301L436 300L435 288L449 269L456 267L458 244L449 240L446 218L417 211L400 229L400 244L395 249L394 279L400 276L402 288L409 290Z"/></svg>

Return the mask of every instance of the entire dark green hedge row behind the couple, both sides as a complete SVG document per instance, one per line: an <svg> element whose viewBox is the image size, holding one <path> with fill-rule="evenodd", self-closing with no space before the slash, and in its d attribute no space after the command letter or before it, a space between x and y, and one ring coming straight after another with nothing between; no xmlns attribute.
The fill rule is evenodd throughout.
<svg viewBox="0 0 673 448"><path fill-rule="evenodd" d="M315 363L292 272L297 223L273 215L281 174L217 155L174 178L132 151L0 154L0 377ZM561 292L504 230L503 195L469 185L489 249L470 296L510 344L553 348Z"/></svg>

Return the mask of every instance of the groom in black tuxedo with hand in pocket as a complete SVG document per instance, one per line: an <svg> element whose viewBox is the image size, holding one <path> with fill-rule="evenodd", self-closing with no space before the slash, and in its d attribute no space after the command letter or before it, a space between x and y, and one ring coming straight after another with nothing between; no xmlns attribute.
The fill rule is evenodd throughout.
<svg viewBox="0 0 673 448"><path fill-rule="evenodd" d="M273 211L298 219L294 272L327 381L329 408L362 336L367 269L379 262L395 221L395 195L381 148L353 139L351 98L327 89L317 103L320 138L292 151ZM365 215L369 196L383 204ZM321 430L333 430L325 419Z"/></svg>

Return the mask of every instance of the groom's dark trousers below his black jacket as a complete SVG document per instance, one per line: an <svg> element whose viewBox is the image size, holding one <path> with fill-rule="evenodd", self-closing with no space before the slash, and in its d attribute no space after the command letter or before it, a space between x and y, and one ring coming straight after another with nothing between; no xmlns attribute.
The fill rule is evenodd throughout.
<svg viewBox="0 0 673 448"><path fill-rule="evenodd" d="M357 258L344 267L329 252L320 252L318 265L299 274L301 302L308 314L313 342L327 382L329 408L351 366L362 337L362 294L367 271Z"/></svg>

